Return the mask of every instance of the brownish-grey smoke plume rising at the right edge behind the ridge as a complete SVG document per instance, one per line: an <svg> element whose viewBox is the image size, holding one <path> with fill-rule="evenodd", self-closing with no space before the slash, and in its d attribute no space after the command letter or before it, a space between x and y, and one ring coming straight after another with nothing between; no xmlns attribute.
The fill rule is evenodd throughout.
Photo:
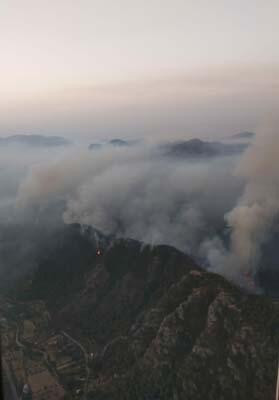
<svg viewBox="0 0 279 400"><path fill-rule="evenodd" d="M271 261L264 247L272 244L274 248L278 232L277 127L278 124L273 124L260 131L236 163L234 176L243 180L243 190L232 209L224 214L226 229L223 234L208 238L201 245L201 253L211 270L250 289L256 288L253 280L259 269L265 269Z"/></svg>

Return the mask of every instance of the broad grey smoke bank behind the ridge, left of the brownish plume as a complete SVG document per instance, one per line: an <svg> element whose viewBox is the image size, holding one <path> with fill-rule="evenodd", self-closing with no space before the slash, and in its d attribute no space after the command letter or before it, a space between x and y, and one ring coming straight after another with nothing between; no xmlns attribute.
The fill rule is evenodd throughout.
<svg viewBox="0 0 279 400"><path fill-rule="evenodd" d="M242 179L232 174L237 159L168 160L147 146L82 152L34 168L17 204L63 198L66 223L167 243L201 258L204 241L224 230L224 214L242 190Z"/></svg>

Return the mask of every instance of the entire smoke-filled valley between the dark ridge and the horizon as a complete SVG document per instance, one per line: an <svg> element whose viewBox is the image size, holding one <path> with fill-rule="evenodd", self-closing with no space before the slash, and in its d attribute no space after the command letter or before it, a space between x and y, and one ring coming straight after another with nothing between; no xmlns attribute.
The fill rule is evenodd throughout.
<svg viewBox="0 0 279 400"><path fill-rule="evenodd" d="M246 136L220 143L1 146L2 275L34 267L54 232L78 223L174 246L259 290L259 271L271 269L278 279L270 249L278 238L279 142L272 129Z"/></svg>

